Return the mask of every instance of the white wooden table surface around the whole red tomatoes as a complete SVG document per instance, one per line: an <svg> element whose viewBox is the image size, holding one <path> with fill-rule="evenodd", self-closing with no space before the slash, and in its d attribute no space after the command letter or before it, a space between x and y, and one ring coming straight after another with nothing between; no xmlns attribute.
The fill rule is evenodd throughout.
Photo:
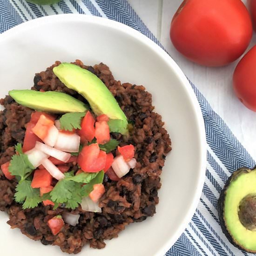
<svg viewBox="0 0 256 256"><path fill-rule="evenodd" d="M232 75L238 61L226 67L202 67L188 61L176 51L169 39L169 29L172 17L182 0L128 1L182 71L206 97L215 112L222 117L237 139L256 160L256 113L238 101L232 88ZM248 49L255 44L256 33L254 32Z"/></svg>

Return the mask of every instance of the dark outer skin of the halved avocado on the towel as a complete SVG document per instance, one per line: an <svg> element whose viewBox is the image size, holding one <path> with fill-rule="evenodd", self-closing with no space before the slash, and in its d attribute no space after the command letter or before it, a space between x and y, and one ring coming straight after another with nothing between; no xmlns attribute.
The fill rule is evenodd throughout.
<svg viewBox="0 0 256 256"><path fill-rule="evenodd" d="M233 240L232 236L229 234L228 229L226 228L225 219L224 219L224 202L225 202L226 190L228 189L230 182L232 182L234 179L236 179L242 173L249 173L250 171L254 170L255 168L256 168L256 166L252 169L246 168L246 167L237 169L225 183L225 186L220 193L220 197L219 197L218 205L217 205L217 211L218 211L218 216L219 216L219 221L220 221L220 225L222 228L222 232L228 238L229 242L232 243L236 248L246 251L246 252L249 252L249 253L256 253L256 251L245 249L245 248L241 247L239 244L237 244Z"/></svg>

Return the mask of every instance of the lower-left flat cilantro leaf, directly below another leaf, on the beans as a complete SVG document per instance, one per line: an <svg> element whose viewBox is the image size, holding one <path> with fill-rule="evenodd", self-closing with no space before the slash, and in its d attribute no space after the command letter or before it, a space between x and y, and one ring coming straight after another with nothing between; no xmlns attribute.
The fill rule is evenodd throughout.
<svg viewBox="0 0 256 256"><path fill-rule="evenodd" d="M14 197L16 202L23 203L23 209L37 207L42 202L39 189L33 189L31 187L31 181L27 180L20 182L16 186Z"/></svg>

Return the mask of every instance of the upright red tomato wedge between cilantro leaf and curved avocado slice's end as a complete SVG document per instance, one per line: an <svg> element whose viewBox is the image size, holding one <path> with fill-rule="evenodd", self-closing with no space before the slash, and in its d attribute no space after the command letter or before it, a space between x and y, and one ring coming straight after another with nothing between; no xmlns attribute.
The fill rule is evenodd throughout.
<svg viewBox="0 0 256 256"><path fill-rule="evenodd" d="M94 117L90 113L90 111L87 111L85 117L82 120L81 123L81 130L78 131L78 134L91 142L94 139L95 136L95 129L94 129Z"/></svg>

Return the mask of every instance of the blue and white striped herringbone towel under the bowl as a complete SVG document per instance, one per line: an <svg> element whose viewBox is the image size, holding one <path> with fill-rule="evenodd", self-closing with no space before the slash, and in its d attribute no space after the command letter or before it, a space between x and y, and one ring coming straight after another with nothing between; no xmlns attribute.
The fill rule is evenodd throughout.
<svg viewBox="0 0 256 256"><path fill-rule="evenodd" d="M25 0L0 0L0 33L24 21L58 13L85 13L117 20L135 28L161 46L127 0L61 0L51 6L37 6ZM162 47L162 46L161 46ZM202 196L186 230L167 256L249 255L231 245L222 234L217 216L217 199L229 175L239 167L253 167L254 161L219 115L191 83L205 122L207 169Z"/></svg>

